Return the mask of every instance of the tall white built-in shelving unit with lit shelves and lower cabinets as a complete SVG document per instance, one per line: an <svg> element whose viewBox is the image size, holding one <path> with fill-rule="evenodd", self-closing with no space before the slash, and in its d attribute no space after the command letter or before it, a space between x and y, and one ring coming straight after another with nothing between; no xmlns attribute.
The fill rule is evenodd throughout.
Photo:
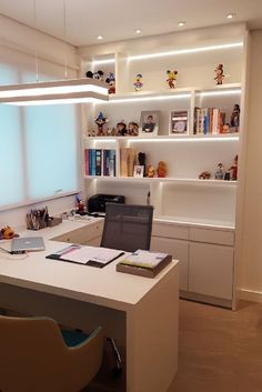
<svg viewBox="0 0 262 392"><path fill-rule="evenodd" d="M182 283L184 296L196 298L226 306L233 301L233 269L234 269L234 229L236 213L238 181L199 180L199 174L209 170L215 172L218 163L225 169L233 164L234 157L240 152L240 132L226 134L194 134L194 108L219 108L225 113L225 121L230 121L234 104L242 108L244 94L244 29L221 28L222 38L218 38L218 30L205 33L199 40L192 38L192 43L183 42L178 36L178 46L170 41L159 40L159 48L142 53L142 43L135 46L127 42L119 52L118 44L108 48L105 64L107 72L113 71L117 79L117 93L108 102L89 104L83 113L83 147L85 149L114 149L117 160L115 177L84 175L85 195L94 193L124 194L127 203L144 204L150 194L150 202L154 205L154 229L152 249L172 252L181 260ZM213 34L213 36L212 36ZM174 42L177 40L174 39ZM153 41L152 41L153 42ZM161 43L162 42L162 43ZM150 48L151 46L147 46ZM164 48L164 50L163 50ZM99 60L105 58L104 47L92 48L85 53L82 63L83 71L92 68L91 59L95 60L95 69L104 69ZM159 49L157 53L157 49ZM115 52L114 52L115 50ZM87 60L89 59L89 60ZM224 83L215 86L214 69L218 63L224 64ZM168 89L165 71L178 69L178 84L175 89ZM143 76L143 89L133 91L137 73ZM115 127L120 121L140 122L141 111L160 111L160 127L158 137L88 137L94 124L94 118L100 111L109 119L109 127ZM182 135L169 135L169 119L172 110L188 110L189 132ZM120 177L120 151L132 148L137 153L144 152L147 164L155 169L159 161L168 167L165 178L122 178ZM180 230L178 230L180 228ZM181 228L184 232L181 234ZM193 230L201 231L201 235L193 237ZM221 232L230 241L221 240ZM213 234L213 237L210 234ZM230 234L229 234L230 233ZM201 238L201 240L200 240ZM195 243L201 243L195 247ZM226 288L220 291L199 290L194 277L198 277L198 263L202 250L204 268L213 252L225 254L226 267L221 267L219 275L226 274ZM206 245L206 248L204 247ZM211 247L211 248L210 248ZM219 247L219 248L218 248ZM222 248L220 248L222 247ZM225 248L224 250L224 247ZM178 254L178 249L179 254ZM193 254L195 253L195 259ZM215 258L214 258L215 259ZM218 258L216 258L218 259ZM214 271L219 271L215 259ZM192 265L192 268L191 268ZM221 264L222 265L222 264ZM201 267L201 268L202 268ZM212 268L206 269L206 279L212 281ZM231 271L229 273L229 271ZM223 285L223 284L222 284ZM212 284L209 287L212 287ZM196 290L196 291L195 291ZM208 300L206 300L206 298Z"/></svg>

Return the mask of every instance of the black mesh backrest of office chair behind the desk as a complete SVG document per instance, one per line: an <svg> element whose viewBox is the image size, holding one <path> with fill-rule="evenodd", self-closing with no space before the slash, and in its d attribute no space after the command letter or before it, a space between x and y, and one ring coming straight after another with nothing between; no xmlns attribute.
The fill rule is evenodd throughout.
<svg viewBox="0 0 262 392"><path fill-rule="evenodd" d="M134 252L149 250L152 205L107 203L101 247Z"/></svg>

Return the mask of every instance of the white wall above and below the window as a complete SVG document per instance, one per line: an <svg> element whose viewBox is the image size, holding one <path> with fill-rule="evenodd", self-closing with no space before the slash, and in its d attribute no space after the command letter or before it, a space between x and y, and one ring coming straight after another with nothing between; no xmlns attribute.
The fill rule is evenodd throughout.
<svg viewBox="0 0 262 392"><path fill-rule="evenodd" d="M40 72L50 72L50 74L62 79L64 77L64 60L67 56L69 77L77 77L78 57L74 47L0 16L0 60L4 61L4 59L8 59L18 64L18 67L21 64L21 67L27 67L27 69L34 71L36 50L38 51ZM0 183L0 192L2 187L4 187L4 183ZM42 203L0 211L0 229L7 224L12 227L24 225L26 213L31 208L44 205L49 207L50 214L60 213L74 207L74 197L63 197Z"/></svg>

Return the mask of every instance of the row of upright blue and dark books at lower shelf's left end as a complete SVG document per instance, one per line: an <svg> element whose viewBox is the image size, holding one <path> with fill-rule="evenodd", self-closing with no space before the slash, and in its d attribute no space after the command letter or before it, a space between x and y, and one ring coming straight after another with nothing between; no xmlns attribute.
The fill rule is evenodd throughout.
<svg viewBox="0 0 262 392"><path fill-rule="evenodd" d="M115 177L115 150L85 149L85 175Z"/></svg>

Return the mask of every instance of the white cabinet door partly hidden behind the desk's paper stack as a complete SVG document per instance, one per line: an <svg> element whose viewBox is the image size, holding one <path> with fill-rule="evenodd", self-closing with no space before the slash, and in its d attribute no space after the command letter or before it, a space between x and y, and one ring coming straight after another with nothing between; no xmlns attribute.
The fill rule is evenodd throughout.
<svg viewBox="0 0 262 392"><path fill-rule="evenodd" d="M189 242L162 237L151 238L151 251L164 252L172 254L173 259L180 261L179 263L179 288L180 290L188 291L188 265L189 265Z"/></svg>

